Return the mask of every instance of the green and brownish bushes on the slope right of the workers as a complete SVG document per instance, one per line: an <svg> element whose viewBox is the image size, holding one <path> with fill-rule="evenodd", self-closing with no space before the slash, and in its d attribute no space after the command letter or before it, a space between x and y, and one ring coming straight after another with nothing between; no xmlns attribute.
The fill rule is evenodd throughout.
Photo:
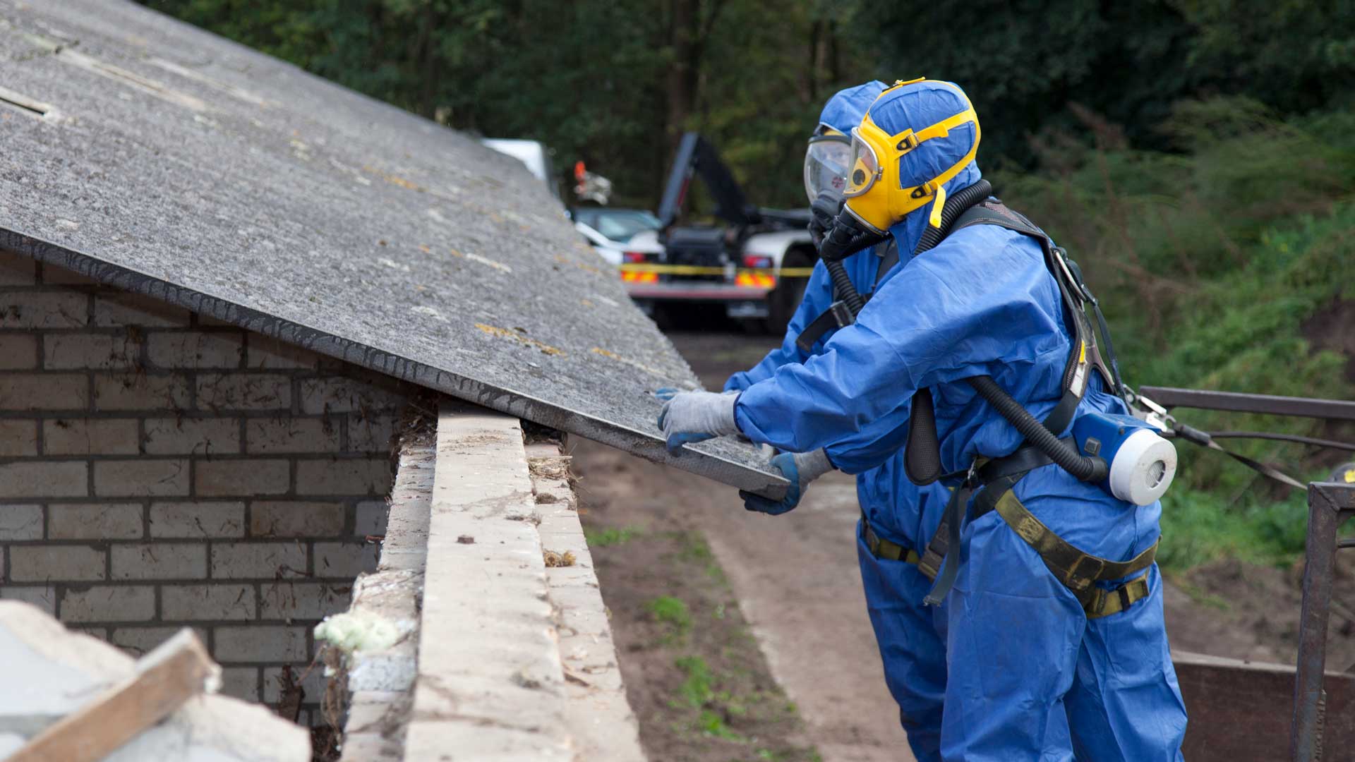
<svg viewBox="0 0 1355 762"><path fill-rule="evenodd" d="M997 183L1083 266L1126 382L1355 397L1341 336L1309 328L1355 298L1346 285L1355 244L1355 205L1347 201L1355 140L1346 127L1355 115L1286 122L1245 99L1186 103L1164 127L1179 155L1131 151L1084 117L1091 145L1068 136L1039 142L1054 178ZM1298 418L1179 412L1205 430L1341 431ZM1301 480L1324 476L1341 458L1270 441L1225 446ZM1180 472L1163 500L1165 568L1224 556L1286 563L1302 552L1298 491L1276 495L1268 480L1220 453L1184 442L1177 450Z"/></svg>

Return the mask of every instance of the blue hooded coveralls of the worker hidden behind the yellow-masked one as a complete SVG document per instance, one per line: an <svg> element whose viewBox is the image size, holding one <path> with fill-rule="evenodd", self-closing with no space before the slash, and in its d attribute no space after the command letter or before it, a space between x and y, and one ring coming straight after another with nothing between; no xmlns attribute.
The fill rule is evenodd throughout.
<svg viewBox="0 0 1355 762"><path fill-rule="evenodd" d="M841 133L850 133L860 123L866 108L885 89L881 81L871 81L833 95L824 106L818 121ZM963 186L961 186L963 187ZM916 247L917 241L912 241ZM901 252L912 251L900 249ZM882 248L882 247L881 247ZM906 260L906 254L900 254ZM851 282L862 296L879 286L875 282L881 256L867 248L843 260ZM900 270L894 264L881 279L892 278ZM821 354L833 335L825 334L806 354L797 344L799 334L833 302L833 285L822 262L805 285L805 296L786 328L779 348L752 369L734 373L725 382L726 392L741 392L770 378L783 365L802 363ZM917 487L904 475L901 452L882 465L856 475L856 498L871 529L879 537L905 548L923 552L940 523L950 491L942 484ZM866 546L862 527L856 527L856 557L860 564L866 607L875 630L879 655L885 663L885 683L898 702L900 723L908 732L908 744L919 762L940 759L942 700L946 693L944 607L923 606L931 582L915 564L902 560L877 559Z"/></svg>

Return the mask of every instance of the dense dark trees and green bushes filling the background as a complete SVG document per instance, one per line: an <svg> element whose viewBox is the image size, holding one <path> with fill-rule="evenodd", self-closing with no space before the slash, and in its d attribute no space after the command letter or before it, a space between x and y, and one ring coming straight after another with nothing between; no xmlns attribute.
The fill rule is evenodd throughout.
<svg viewBox="0 0 1355 762"><path fill-rule="evenodd" d="M978 108L989 178L1100 292L1133 382L1355 397L1347 0L144 1L451 126L542 140L640 205L687 129L755 202L801 205L804 137L831 92L950 79ZM1232 445L1304 477L1341 460ZM1165 565L1301 549L1299 495L1182 447Z"/></svg>

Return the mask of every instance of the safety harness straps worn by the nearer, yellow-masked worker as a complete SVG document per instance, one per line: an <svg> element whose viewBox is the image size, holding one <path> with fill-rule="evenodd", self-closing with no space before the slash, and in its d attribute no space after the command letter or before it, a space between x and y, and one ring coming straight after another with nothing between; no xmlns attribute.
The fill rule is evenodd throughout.
<svg viewBox="0 0 1355 762"><path fill-rule="evenodd" d="M1045 254L1045 264L1058 283L1066 317L1065 323L1073 334L1073 346L1062 376L1062 395L1054 409L1043 419L1043 427L1054 437L1058 437L1072 423L1077 405L1087 393L1087 384L1092 370L1102 376L1108 389L1114 389L1121 396L1125 396L1125 386L1119 378L1118 363L1114 359L1114 350L1110 347L1110 334L1106 329L1100 306L1089 289L1087 289L1080 270L1068 259L1064 249L1056 247L1053 240L1026 217L1007 209L1000 201L992 198L981 201L961 213L948 229L940 230L942 236L932 237L931 245L939 243L946 235L972 225L999 225L1035 239ZM920 251L925 249L920 247ZM1110 363L1102 358L1098 347L1096 332L1092 329L1091 320L1087 316L1088 305L1093 308L1100 321L1102 336L1107 343L1107 354L1111 358ZM1064 442L1068 443L1066 439ZM942 473L939 450L931 392L921 389L913 397L913 409L909 420L909 438L905 452L905 470L908 472L908 477L917 484L930 484L943 476L959 476ZM1012 491L1016 483L1027 473L1053 462L1054 460L1049 454L1034 445L1024 445L1000 458L978 458L972 464L967 473L963 475L959 485L953 488L942 522L924 553L919 555L916 550L902 548L878 537L863 515L862 532L866 544L877 557L916 564L919 571L928 579L935 580L927 602L932 605L940 603L954 584L958 574L958 563L942 564L942 561L948 549L958 545L959 529L967 510L969 499L977 492L974 498L974 518L996 510L1018 537L1039 553L1041 560L1045 561L1050 572L1073 593L1088 618L1123 611L1135 601L1148 595L1148 569L1157 553L1157 542L1127 561L1112 561L1084 553L1058 537L1058 534L1031 514Z"/></svg>

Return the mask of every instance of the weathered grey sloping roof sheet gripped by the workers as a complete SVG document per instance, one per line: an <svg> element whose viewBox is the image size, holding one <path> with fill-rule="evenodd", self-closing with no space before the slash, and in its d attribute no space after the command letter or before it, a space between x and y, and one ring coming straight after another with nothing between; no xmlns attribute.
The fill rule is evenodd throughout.
<svg viewBox="0 0 1355 762"><path fill-rule="evenodd" d="M695 376L516 160L131 3L0 0L0 245L785 487L733 441L667 456L652 392Z"/></svg>

